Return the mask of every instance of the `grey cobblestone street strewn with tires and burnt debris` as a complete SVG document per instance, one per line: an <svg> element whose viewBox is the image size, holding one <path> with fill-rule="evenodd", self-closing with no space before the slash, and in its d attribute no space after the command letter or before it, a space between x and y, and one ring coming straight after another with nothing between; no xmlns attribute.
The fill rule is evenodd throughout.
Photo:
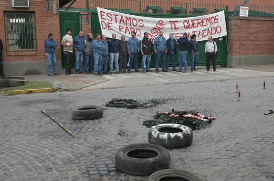
<svg viewBox="0 0 274 181"><path fill-rule="evenodd" d="M115 154L124 145L148 143L143 121L172 108L207 110L217 119L193 131L189 147L168 149L170 168L191 171L203 181L274 181L274 114L264 115L274 109L273 93L274 77L268 77L0 97L0 181L146 181L148 176L117 170ZM101 119L71 118L76 106L113 98L168 103L145 109L103 106Z"/></svg>

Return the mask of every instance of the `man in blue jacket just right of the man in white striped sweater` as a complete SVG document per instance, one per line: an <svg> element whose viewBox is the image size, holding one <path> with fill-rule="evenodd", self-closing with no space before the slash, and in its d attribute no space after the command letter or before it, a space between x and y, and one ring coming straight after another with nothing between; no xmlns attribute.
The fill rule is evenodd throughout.
<svg viewBox="0 0 274 181"><path fill-rule="evenodd" d="M75 52L75 69L76 74L82 73L83 71L83 57L84 57L84 45L85 37L84 32L80 30L78 36L73 39L73 49Z"/></svg>

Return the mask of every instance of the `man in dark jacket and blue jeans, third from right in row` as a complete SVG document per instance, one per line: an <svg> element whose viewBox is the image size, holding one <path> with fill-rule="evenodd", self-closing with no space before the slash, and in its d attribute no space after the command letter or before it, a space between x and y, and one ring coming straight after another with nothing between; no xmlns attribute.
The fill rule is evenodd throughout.
<svg viewBox="0 0 274 181"><path fill-rule="evenodd" d="M177 72L182 72L182 65L184 63L184 70L183 73L187 72L187 61L186 61L186 52L187 52L187 44L188 38L187 33L183 33L183 35L177 39L177 42L180 44L180 51L179 51L179 70Z"/></svg>

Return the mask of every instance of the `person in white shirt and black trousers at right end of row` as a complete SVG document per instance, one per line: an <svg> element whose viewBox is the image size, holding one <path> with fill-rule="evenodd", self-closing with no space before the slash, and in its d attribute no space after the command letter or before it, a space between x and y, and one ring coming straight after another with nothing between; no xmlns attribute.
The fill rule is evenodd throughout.
<svg viewBox="0 0 274 181"><path fill-rule="evenodd" d="M217 54L217 44L216 42L212 41L212 36L208 36L208 42L206 42L205 52L206 52L206 71L209 71L210 68L210 59L212 60L213 64L213 71L216 71L216 54Z"/></svg>

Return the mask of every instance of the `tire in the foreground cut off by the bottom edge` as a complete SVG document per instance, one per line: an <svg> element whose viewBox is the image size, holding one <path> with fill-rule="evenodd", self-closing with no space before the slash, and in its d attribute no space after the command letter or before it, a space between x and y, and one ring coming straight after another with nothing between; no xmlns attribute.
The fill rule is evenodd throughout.
<svg viewBox="0 0 274 181"><path fill-rule="evenodd" d="M147 181L202 181L194 173L177 170L177 169L165 169L154 172L149 176Z"/></svg>

